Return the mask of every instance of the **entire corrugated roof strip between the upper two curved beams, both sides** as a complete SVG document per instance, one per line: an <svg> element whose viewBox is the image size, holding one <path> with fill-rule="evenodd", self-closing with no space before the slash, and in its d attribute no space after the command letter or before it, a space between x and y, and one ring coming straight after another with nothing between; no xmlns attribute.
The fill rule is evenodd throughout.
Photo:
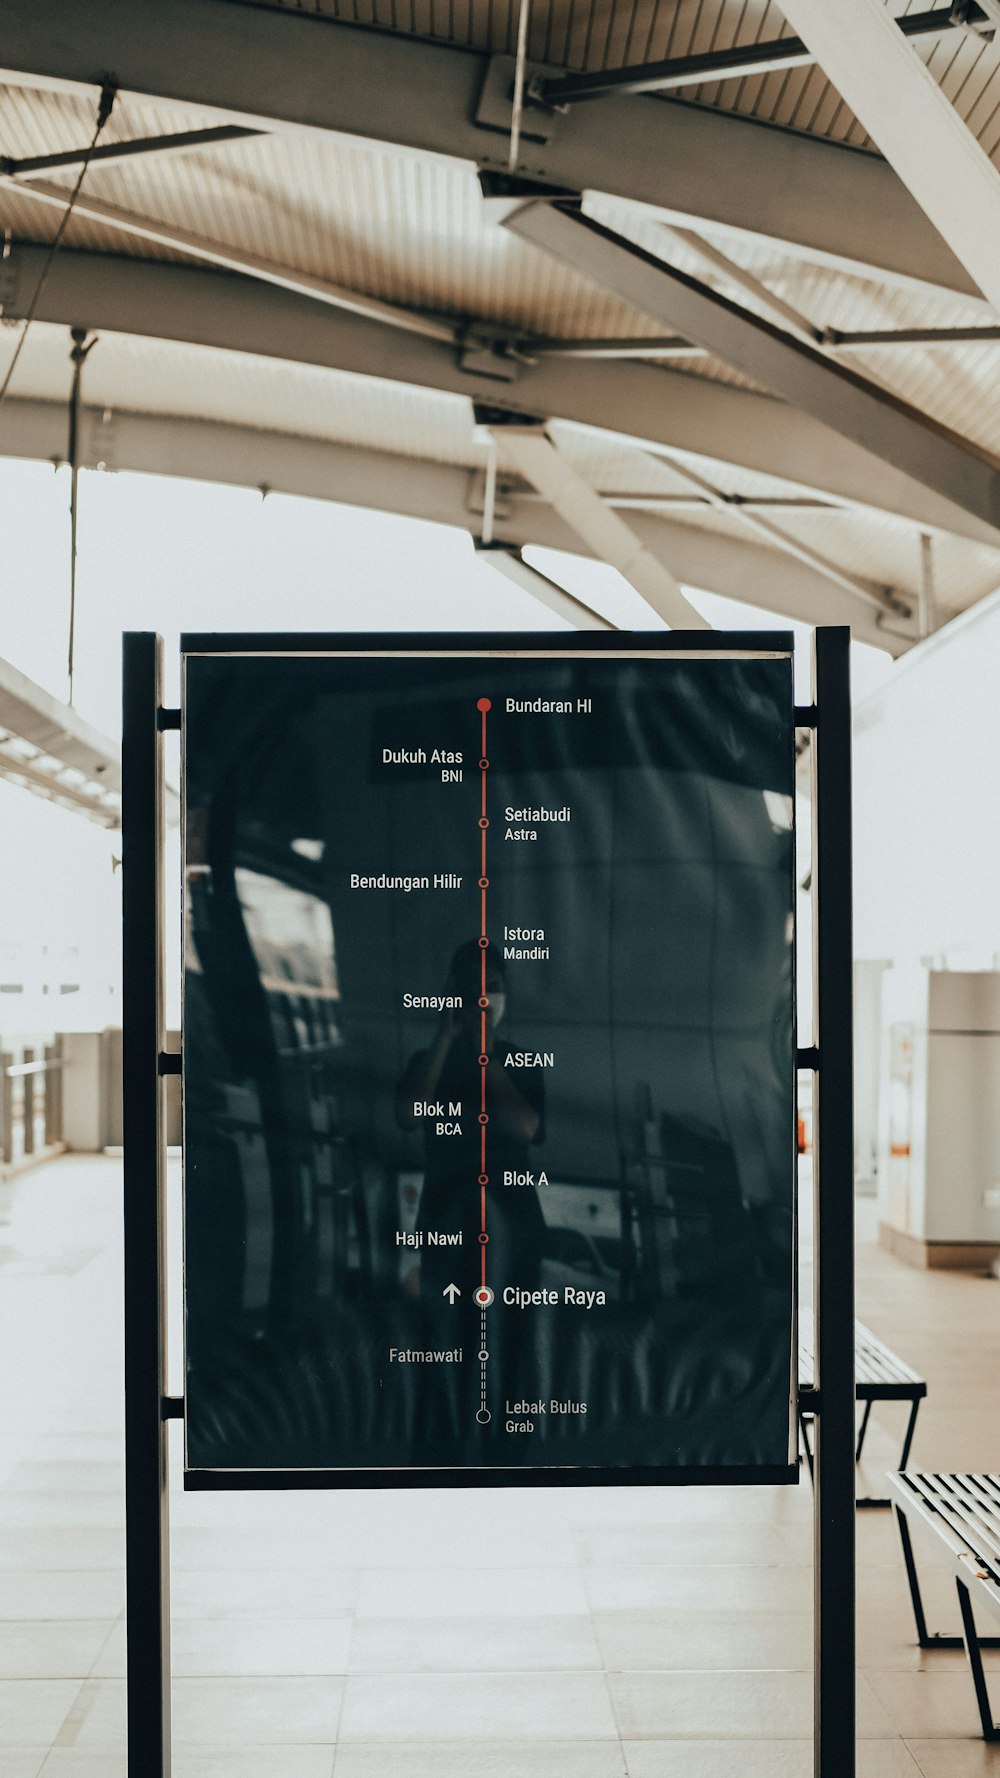
<svg viewBox="0 0 1000 1778"><path fill-rule="evenodd" d="M16 155L80 144L93 117L93 105L27 89L0 91L0 105L4 142ZM198 128L208 116L128 101L121 117L116 110L114 139ZM73 176L64 172L52 183L69 192ZM473 169L440 156L345 137L267 135L169 158L96 165L85 196L456 322L475 316L498 329L562 338L641 340L662 332L649 316L489 224ZM591 196L587 210L646 251L733 295L724 276L665 231L662 213L603 196ZM52 240L59 213L5 190L0 222L18 236ZM779 244L733 240L708 228L703 233L820 327L961 327L982 320L982 309L968 300L854 277ZM185 260L180 251L87 217L73 217L66 245ZM737 295L744 308L767 313L753 295ZM692 375L754 388L712 357L674 363ZM989 398L1000 366L996 348L865 350L856 364L941 423L1000 452L1000 414Z"/></svg>

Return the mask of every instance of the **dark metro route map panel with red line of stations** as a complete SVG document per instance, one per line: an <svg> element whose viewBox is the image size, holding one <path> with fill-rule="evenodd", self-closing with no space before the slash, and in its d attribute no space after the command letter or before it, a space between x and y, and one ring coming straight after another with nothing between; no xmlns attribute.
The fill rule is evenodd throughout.
<svg viewBox="0 0 1000 1778"><path fill-rule="evenodd" d="M183 649L192 1485L794 1479L790 638Z"/></svg>

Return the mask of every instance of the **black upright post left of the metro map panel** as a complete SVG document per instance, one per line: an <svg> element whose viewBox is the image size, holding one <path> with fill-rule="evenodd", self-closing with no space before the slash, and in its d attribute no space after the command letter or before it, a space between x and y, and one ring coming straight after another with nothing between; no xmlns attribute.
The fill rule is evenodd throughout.
<svg viewBox="0 0 1000 1778"><path fill-rule="evenodd" d="M164 1289L162 640L123 649L125 1570L128 1778L169 1778Z"/></svg>

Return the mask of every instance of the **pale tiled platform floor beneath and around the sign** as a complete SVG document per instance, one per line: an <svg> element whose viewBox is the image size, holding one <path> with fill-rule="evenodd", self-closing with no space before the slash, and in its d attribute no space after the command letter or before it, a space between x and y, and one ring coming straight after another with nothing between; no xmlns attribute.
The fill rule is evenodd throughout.
<svg viewBox="0 0 1000 1778"><path fill-rule="evenodd" d="M125 1773L119 1189L75 1157L0 1193L0 1778ZM900 1266L859 1209L859 1312L931 1383L915 1460L1000 1470L1000 1284ZM806 1778L810 1510L178 1490L174 1774ZM913 1646L888 1513L858 1549L861 1778L1000 1778L961 1654ZM945 1570L927 1593L950 1618Z"/></svg>

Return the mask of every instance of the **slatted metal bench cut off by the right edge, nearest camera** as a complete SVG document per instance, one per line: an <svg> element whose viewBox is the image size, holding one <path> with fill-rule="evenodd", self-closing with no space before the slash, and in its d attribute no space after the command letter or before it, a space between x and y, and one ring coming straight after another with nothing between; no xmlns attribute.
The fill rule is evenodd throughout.
<svg viewBox="0 0 1000 1778"><path fill-rule="evenodd" d="M913 1600L916 1641L922 1648L964 1648L975 1686L975 1702L984 1741L1000 1741L1000 1725L993 1719L984 1648L1000 1648L1000 1636L980 1636L975 1627L973 1595L1000 1618L1000 1476L890 1476L893 1506ZM929 1636L920 1581L913 1559L911 1531L932 1534L938 1549L948 1552L959 1611L961 1636Z"/></svg>

